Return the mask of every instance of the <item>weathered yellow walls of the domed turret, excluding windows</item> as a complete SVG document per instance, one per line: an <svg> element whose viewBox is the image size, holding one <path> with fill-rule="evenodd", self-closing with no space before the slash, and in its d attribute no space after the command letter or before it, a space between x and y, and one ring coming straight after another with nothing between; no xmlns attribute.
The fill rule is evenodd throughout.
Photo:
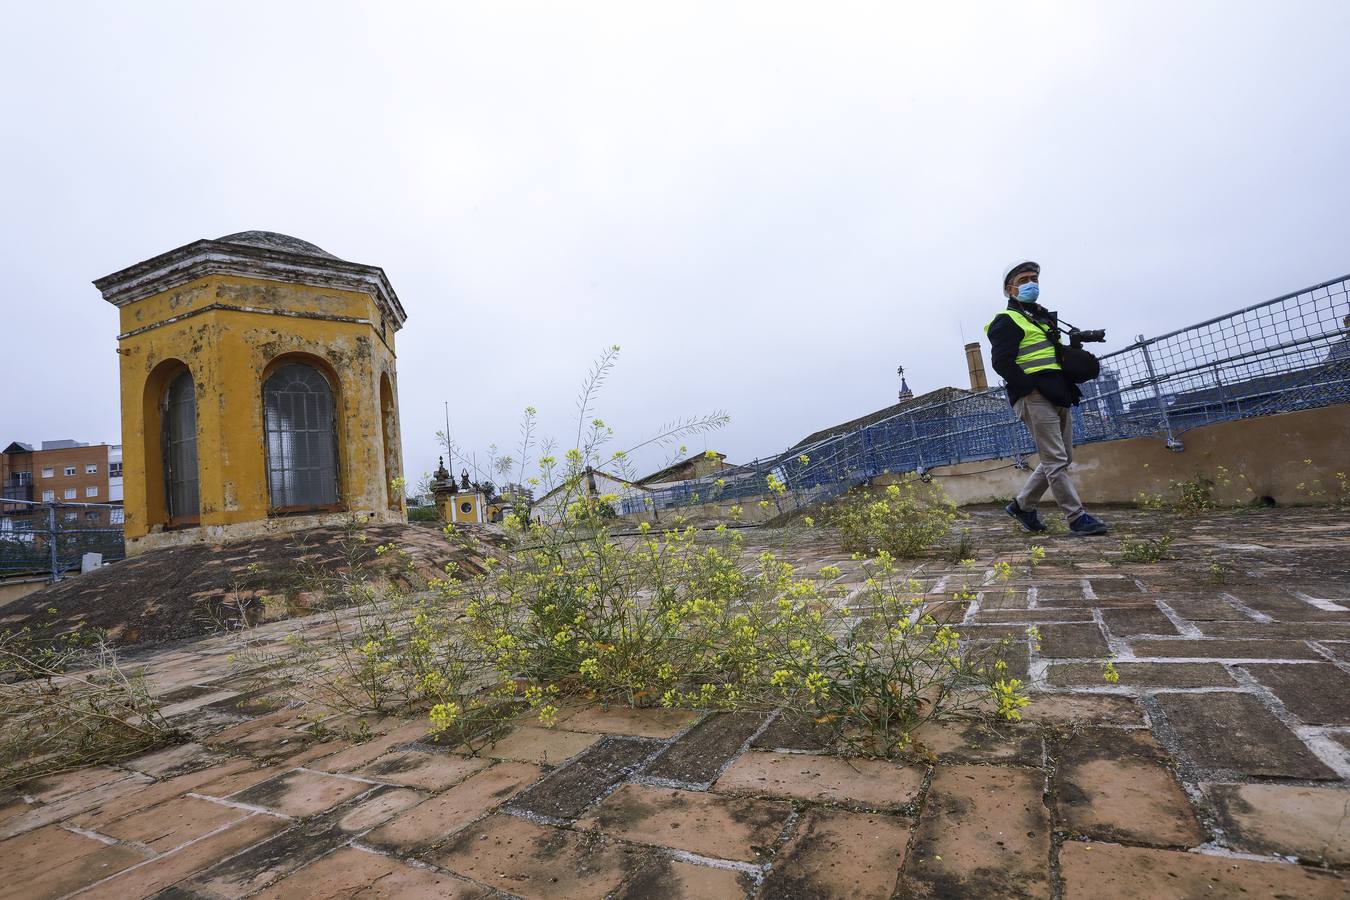
<svg viewBox="0 0 1350 900"><path fill-rule="evenodd" d="M387 374L397 409L393 328L381 333L379 310L371 297L212 275L132 302L120 312L128 541L162 524L162 490L154 486L162 472L158 460L147 459L146 452L147 444L158 448L158 422L153 412L146 416L146 381L165 360L181 360L196 383L201 528L209 536L223 537L223 526L269 517L262 382L269 367L288 355L317 362L316 367L325 370L336 386L339 498L344 511L370 513L379 521L404 519L402 491L394 493L386 478L379 406L379 381ZM389 444L396 459L387 471L397 478L402 471L397 413L392 424Z"/></svg>

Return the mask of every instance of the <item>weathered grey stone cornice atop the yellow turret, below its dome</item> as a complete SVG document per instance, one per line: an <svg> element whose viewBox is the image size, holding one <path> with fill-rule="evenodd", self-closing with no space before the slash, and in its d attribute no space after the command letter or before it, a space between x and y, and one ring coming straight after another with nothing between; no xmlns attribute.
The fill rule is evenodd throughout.
<svg viewBox="0 0 1350 900"><path fill-rule="evenodd" d="M94 279L93 286L103 293L104 300L120 308L207 275L240 275L312 287L359 290L375 298L396 329L402 328L408 318L385 270L378 266L220 240L194 240Z"/></svg>

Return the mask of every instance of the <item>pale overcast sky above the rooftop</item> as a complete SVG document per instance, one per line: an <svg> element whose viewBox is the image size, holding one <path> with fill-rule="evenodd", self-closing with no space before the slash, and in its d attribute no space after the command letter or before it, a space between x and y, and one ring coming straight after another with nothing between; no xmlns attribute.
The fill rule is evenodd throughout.
<svg viewBox="0 0 1350 900"><path fill-rule="evenodd" d="M116 441L89 282L251 228L389 274L412 474L608 344L621 440L745 460L965 386L1014 258L1108 348L1350 273L1342 0L3 13L0 443Z"/></svg>

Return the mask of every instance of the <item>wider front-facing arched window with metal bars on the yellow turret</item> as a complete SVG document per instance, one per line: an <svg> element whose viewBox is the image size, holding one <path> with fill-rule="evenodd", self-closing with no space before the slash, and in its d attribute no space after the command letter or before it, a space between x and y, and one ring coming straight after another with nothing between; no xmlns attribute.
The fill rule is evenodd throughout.
<svg viewBox="0 0 1350 900"><path fill-rule="evenodd" d="M319 370L286 363L262 389L271 507L286 511L338 503L333 391Z"/></svg>

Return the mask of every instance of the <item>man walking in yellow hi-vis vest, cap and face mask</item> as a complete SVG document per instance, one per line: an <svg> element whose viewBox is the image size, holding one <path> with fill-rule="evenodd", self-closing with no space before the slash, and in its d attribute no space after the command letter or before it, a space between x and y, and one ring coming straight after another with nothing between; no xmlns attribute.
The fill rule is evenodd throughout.
<svg viewBox="0 0 1350 900"><path fill-rule="evenodd" d="M1073 416L1079 386L1064 376L1057 352L1054 316L1037 302L1041 266L1023 260L1003 273L1008 306L984 327L992 345L994 371L1007 382L1008 402L1031 432L1041 464L1003 510L1027 532L1044 532L1035 503L1046 488L1064 510L1075 534L1106 534L1106 525L1088 515L1069 478L1073 461Z"/></svg>

